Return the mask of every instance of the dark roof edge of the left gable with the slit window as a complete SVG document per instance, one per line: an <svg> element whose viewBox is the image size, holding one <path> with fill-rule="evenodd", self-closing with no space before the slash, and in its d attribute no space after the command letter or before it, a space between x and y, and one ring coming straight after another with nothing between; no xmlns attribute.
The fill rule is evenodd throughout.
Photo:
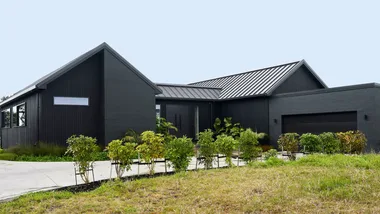
<svg viewBox="0 0 380 214"><path fill-rule="evenodd" d="M162 91L154 84L152 81L150 81L146 76L144 76L139 70L137 70L131 63L129 63L126 59L124 59L119 53L117 53L111 46L109 46L107 43L102 43L99 46L87 51L86 53L80 55L79 57L71 60L67 64L61 66L60 68L50 72L49 74L41 77L37 81L33 82L32 84L28 85L24 89L16 92L8 99L4 100L3 102L0 102L0 106L4 105L6 103L9 103L12 100L15 100L18 97L21 97L29 92L32 92L34 90L38 89L46 89L47 84L54 81L58 77L62 76L66 72L70 71L72 68L78 66L82 62L86 61L87 59L91 58L95 54L107 50L109 51L114 57L116 57L120 62L122 62L125 66L130 68L132 72L134 72L139 78L141 78L145 83L147 83L152 89L155 91L156 94L161 93Z"/></svg>

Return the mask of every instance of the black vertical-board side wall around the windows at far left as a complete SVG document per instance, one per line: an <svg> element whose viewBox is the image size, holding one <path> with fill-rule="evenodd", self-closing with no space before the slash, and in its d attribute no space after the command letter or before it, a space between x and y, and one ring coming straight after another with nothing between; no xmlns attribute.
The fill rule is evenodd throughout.
<svg viewBox="0 0 380 214"><path fill-rule="evenodd" d="M21 103L26 103L26 126L1 128L3 148L10 148L16 145L34 145L38 141L38 92L2 106L1 110L12 108Z"/></svg>

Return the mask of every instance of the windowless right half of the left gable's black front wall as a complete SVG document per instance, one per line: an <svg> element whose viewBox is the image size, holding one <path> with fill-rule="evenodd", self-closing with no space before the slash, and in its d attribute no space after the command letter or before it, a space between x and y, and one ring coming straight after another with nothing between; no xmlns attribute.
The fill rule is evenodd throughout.
<svg viewBox="0 0 380 214"><path fill-rule="evenodd" d="M105 143L128 129L141 133L156 124L155 91L112 53L104 51Z"/></svg>

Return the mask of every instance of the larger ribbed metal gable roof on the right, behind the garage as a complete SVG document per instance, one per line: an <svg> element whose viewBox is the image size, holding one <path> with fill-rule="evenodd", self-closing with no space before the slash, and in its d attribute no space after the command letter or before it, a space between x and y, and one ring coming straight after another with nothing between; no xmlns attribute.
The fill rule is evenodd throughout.
<svg viewBox="0 0 380 214"><path fill-rule="evenodd" d="M223 100L242 97L270 96L281 83L288 79L302 65L306 66L310 73L324 88L327 88L326 84L318 77L305 60L190 83L189 85L220 87L222 88L222 91L219 99Z"/></svg>

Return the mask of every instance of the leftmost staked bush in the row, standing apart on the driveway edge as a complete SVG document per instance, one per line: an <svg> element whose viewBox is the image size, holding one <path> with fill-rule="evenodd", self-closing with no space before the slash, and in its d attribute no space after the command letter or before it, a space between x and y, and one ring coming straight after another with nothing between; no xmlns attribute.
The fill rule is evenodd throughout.
<svg viewBox="0 0 380 214"><path fill-rule="evenodd" d="M79 169L80 176L85 183L89 183L89 168L93 166L99 146L96 138L84 135L73 135L67 139L67 154L72 154L75 165Z"/></svg>

